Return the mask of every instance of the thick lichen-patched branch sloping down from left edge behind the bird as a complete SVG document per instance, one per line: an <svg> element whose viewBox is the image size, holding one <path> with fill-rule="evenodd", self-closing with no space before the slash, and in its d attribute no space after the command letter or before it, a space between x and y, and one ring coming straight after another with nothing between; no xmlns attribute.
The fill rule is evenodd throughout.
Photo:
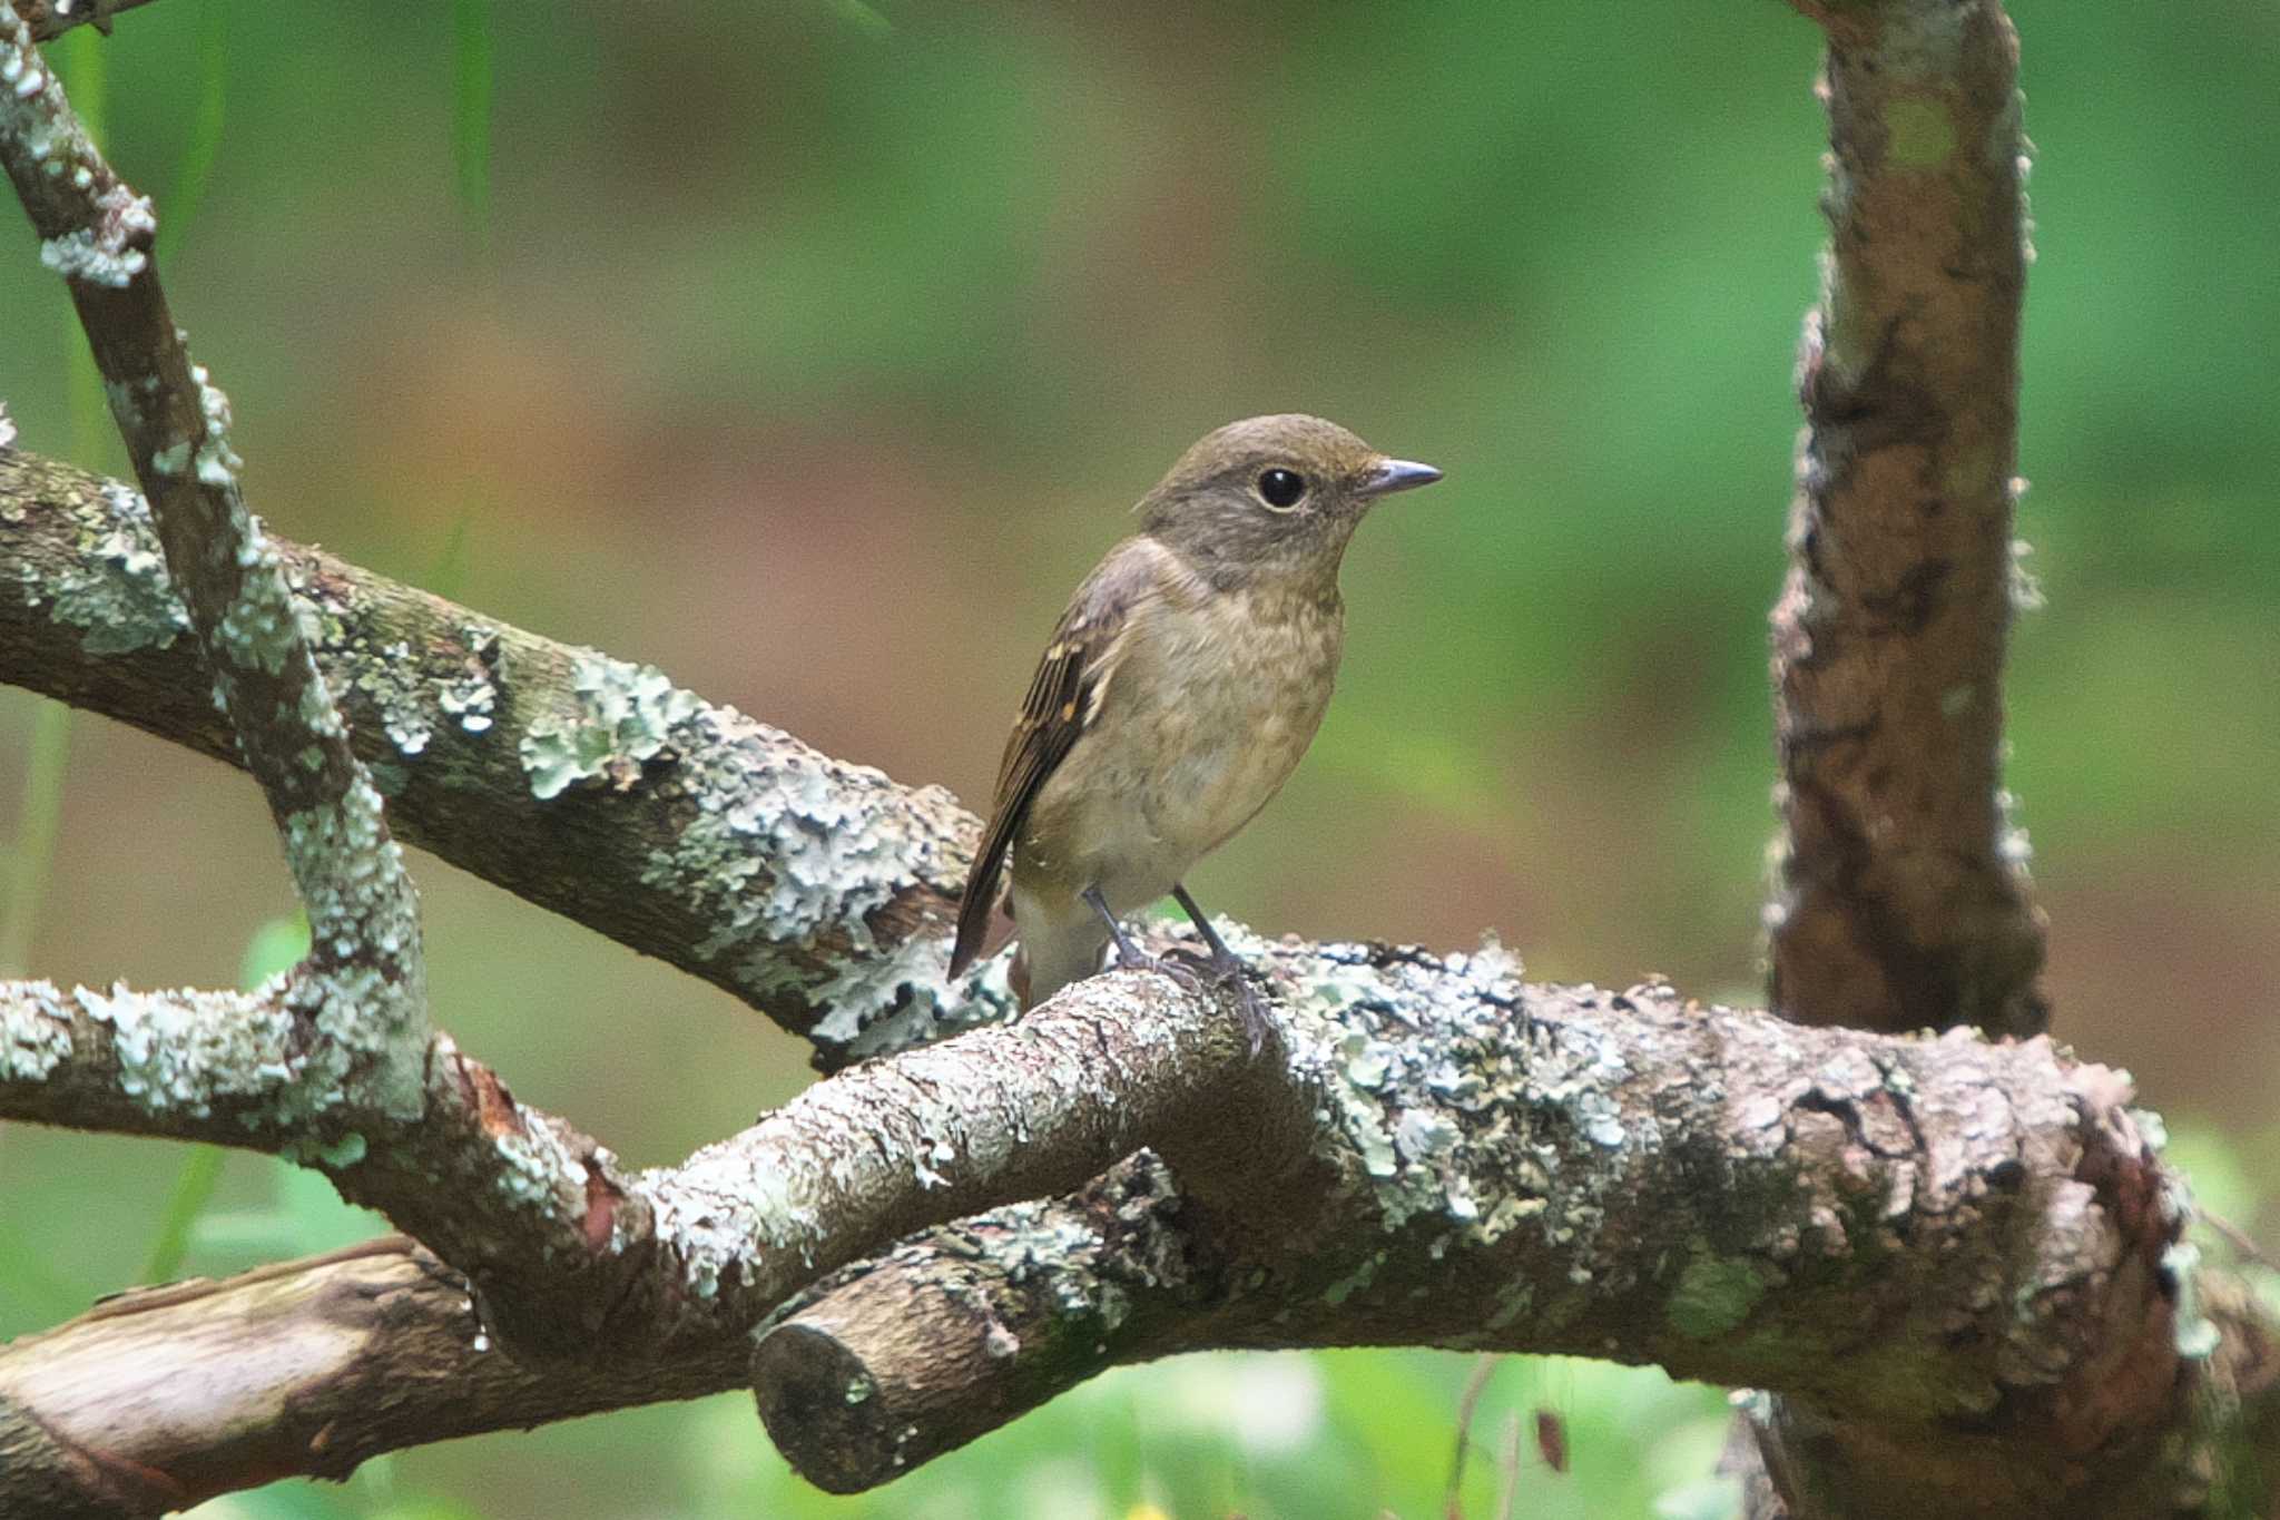
<svg viewBox="0 0 2280 1520"><path fill-rule="evenodd" d="M413 843L702 975L837 1069L1003 1016L944 982L978 823L654 668L271 540ZM0 449L0 681L239 763L141 497Z"/></svg>

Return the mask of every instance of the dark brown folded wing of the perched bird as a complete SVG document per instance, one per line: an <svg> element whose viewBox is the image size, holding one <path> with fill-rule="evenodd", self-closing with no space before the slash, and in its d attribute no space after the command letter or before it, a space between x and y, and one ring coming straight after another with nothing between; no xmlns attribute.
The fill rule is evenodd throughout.
<svg viewBox="0 0 2280 1520"><path fill-rule="evenodd" d="M1069 747L1085 736L1101 713L1108 695L1108 679L1115 675L1124 634L1133 611L1156 586L1154 558L1161 554L1145 538L1131 538L1101 561L1076 595L1069 611L1060 615L1037 675L1028 684L1021 716L1015 718L1005 738L1005 759L999 761L996 800L990 809L990 827L983 832L983 848L974 857L974 873L967 891L958 900L958 948L951 950L951 975L974 964L990 930L990 912L996 907L999 875L1005 871L1005 852L1012 848L1028 809L1053 775Z"/></svg>

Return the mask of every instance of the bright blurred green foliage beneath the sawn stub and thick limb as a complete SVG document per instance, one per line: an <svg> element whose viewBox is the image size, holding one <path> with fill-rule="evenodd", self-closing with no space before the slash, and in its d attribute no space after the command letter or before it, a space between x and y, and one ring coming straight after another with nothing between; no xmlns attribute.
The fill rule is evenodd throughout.
<svg viewBox="0 0 2280 1520"><path fill-rule="evenodd" d="M689 1445L691 1513L787 1520L1140 1520L1227 1515L1313 1520L1439 1515L1455 1463L1468 1358L1425 1351L1243 1354L1126 1367L1085 1383L967 1454L876 1495L807 1488L752 1431L748 1399L700 1408ZM1724 1399L1660 1372L1571 1358L1505 1358L1473 1413L1464 1513L1544 1520L1724 1518L1733 1486L1710 1479ZM1569 1470L1539 1454L1537 1415L1564 1429ZM1523 1431L1507 1474L1503 1443Z"/></svg>

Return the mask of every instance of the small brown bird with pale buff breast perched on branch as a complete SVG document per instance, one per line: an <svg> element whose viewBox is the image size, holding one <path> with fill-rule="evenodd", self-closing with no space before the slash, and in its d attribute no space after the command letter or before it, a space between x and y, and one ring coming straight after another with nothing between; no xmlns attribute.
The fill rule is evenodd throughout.
<svg viewBox="0 0 2280 1520"><path fill-rule="evenodd" d="M1211 946L1202 966L1243 991L1256 1053L1265 1016L1243 962L1181 877L1313 743L1345 645L1338 561L1354 524L1439 479L1297 415L1231 422L1172 465L1037 663L958 905L951 975L983 948L1008 857L1021 1007L1099 971L1110 941L1119 964L1186 975L1117 923L1170 893Z"/></svg>

